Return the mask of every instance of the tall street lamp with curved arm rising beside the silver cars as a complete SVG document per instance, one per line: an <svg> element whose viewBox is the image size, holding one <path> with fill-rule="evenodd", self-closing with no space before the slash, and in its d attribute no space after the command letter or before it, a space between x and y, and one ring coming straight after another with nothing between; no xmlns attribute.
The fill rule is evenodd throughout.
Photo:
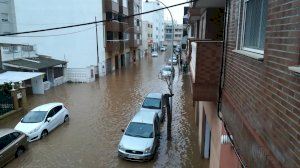
<svg viewBox="0 0 300 168"><path fill-rule="evenodd" d="M146 0L146 3L149 2L148 0ZM173 66L173 53L174 53L174 19L173 19L173 16L172 16L172 13L170 11L170 9L168 8L168 6L166 4L164 4L163 2L161 2L160 0L156 0L156 2L158 3L161 3L163 6L165 6L168 11L169 11L169 14L171 16L171 19L172 19L172 40L171 40L171 43L172 43L172 53L171 53L171 69L173 70L174 66ZM174 77L173 75L171 75L171 81L168 83L168 89L170 91L170 95L166 96L167 97L167 100L169 100L169 97L170 97L170 109L169 111L167 110L167 116L168 116L168 123L167 123L167 139L168 140L171 140L171 120L172 120L172 100L173 100L173 80L174 80Z"/></svg>

